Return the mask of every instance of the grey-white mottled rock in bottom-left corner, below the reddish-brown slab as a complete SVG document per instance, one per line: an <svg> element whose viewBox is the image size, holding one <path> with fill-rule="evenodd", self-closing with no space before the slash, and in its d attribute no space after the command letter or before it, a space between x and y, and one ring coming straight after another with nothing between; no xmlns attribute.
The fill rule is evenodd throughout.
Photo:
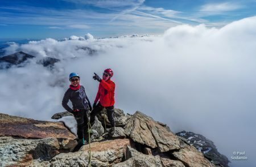
<svg viewBox="0 0 256 167"><path fill-rule="evenodd" d="M47 164L48 160L60 152L72 151L76 144L76 140L69 139L2 137L0 138L0 166L33 166L38 162Z"/></svg>

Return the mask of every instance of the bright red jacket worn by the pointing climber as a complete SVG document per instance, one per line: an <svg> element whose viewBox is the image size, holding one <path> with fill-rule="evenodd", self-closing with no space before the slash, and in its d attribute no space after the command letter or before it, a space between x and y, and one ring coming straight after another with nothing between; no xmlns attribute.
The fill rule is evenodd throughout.
<svg viewBox="0 0 256 167"><path fill-rule="evenodd" d="M98 86L98 93L94 100L97 102L100 99L102 106L113 106L115 104L115 83L112 80L101 80Z"/></svg>

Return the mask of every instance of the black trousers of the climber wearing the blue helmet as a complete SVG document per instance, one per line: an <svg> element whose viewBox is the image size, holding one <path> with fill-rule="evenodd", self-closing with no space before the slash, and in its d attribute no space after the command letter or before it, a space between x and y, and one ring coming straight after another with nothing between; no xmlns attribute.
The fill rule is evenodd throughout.
<svg viewBox="0 0 256 167"><path fill-rule="evenodd" d="M85 138L85 132L88 130L88 109L75 112L74 117L77 122L77 136L79 139Z"/></svg>

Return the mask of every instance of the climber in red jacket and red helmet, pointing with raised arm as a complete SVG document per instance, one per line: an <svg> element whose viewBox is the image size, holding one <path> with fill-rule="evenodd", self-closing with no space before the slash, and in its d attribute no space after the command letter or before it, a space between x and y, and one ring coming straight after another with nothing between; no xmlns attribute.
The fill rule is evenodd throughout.
<svg viewBox="0 0 256 167"><path fill-rule="evenodd" d="M114 91L115 91L115 83L110 80L113 76L113 70L108 68L103 72L102 79L96 73L94 73L93 79L100 82L98 86L98 93L93 103L93 110L90 113L90 122L94 122L94 119L98 113L101 112L102 109L106 108L106 112L108 115L108 119L111 123L112 131L115 129L115 121L114 121ZM98 100L100 100L98 102ZM98 102L98 104L97 104Z"/></svg>

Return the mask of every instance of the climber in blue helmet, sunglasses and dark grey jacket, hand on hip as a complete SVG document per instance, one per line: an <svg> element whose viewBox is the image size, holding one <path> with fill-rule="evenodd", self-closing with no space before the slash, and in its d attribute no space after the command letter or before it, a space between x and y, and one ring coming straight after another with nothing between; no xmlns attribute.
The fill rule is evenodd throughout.
<svg viewBox="0 0 256 167"><path fill-rule="evenodd" d="M82 144L85 144L85 131L88 129L89 110L92 110L90 101L85 93L85 88L80 85L80 76L75 72L69 75L71 85L62 100L63 107L72 113L77 122L77 135ZM71 100L73 109L68 106L68 101Z"/></svg>

